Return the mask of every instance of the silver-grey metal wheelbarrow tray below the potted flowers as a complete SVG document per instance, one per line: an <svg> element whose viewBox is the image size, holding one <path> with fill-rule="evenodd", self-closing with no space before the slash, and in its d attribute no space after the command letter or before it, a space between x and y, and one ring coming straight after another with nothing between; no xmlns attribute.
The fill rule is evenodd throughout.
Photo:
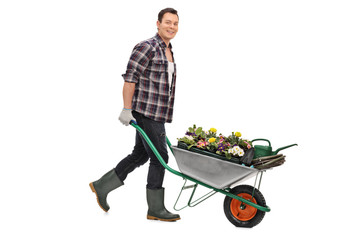
<svg viewBox="0 0 360 240"><path fill-rule="evenodd" d="M172 146L180 171L217 189L230 187L259 170Z"/></svg>

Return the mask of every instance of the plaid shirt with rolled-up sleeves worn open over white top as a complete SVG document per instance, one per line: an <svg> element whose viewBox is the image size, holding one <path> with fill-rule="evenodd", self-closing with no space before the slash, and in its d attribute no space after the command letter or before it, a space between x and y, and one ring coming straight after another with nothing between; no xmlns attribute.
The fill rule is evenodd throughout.
<svg viewBox="0 0 360 240"><path fill-rule="evenodd" d="M171 51L171 44L169 48ZM122 76L126 82L136 83L132 110L155 121L170 123L175 98L176 66L174 64L174 75L169 82L165 50L166 44L158 34L140 42L134 47L126 73Z"/></svg>

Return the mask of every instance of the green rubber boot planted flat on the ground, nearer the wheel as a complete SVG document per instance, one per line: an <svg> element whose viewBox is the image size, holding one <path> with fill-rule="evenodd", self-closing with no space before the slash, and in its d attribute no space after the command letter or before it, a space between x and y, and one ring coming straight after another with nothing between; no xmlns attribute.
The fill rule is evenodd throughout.
<svg viewBox="0 0 360 240"><path fill-rule="evenodd" d="M148 202L147 219L173 222L180 220L178 214L169 212L164 206L164 188L146 189L146 199Z"/></svg>

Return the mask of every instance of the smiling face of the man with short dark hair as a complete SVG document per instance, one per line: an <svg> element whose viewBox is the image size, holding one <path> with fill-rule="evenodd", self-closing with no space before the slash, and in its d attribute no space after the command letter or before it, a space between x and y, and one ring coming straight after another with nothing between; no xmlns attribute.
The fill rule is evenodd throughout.
<svg viewBox="0 0 360 240"><path fill-rule="evenodd" d="M179 18L176 14L165 13L161 22L157 21L158 33L164 41L173 39L178 31Z"/></svg>

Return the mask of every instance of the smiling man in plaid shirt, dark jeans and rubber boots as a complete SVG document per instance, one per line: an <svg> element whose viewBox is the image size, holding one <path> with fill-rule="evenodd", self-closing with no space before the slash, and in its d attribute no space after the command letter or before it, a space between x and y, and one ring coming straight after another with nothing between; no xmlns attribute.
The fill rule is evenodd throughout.
<svg viewBox="0 0 360 240"><path fill-rule="evenodd" d="M170 40L178 31L177 11L166 8L159 12L157 34L137 44L130 56L123 87L124 108L119 120L128 126L135 121L148 135L161 157L168 162L165 122L170 123L175 97L176 66ZM106 201L108 193L122 185L127 175L150 158L146 197L148 219L176 221L178 214L169 212L164 206L162 187L165 169L148 144L136 132L135 147L130 155L102 176L90 183L98 204L109 210Z"/></svg>

